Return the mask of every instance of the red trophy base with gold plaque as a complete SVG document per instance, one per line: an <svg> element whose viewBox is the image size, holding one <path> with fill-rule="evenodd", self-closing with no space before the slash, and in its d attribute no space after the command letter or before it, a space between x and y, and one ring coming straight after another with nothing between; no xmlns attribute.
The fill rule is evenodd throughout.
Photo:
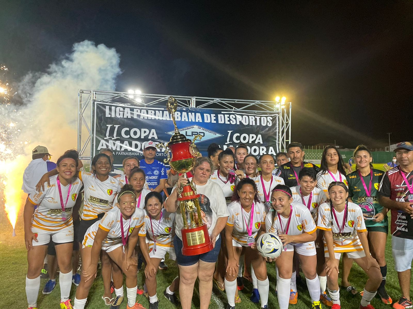
<svg viewBox="0 0 413 309"><path fill-rule="evenodd" d="M182 254L198 255L211 251L214 246L209 238L207 225L195 227L193 229L182 229Z"/></svg>

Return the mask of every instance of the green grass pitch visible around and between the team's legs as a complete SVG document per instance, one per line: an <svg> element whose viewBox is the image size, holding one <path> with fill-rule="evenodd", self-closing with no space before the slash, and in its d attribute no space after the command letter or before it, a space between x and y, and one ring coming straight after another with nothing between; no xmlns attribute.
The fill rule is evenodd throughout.
<svg viewBox="0 0 413 309"><path fill-rule="evenodd" d="M25 278L27 272L27 262L26 262L26 248L24 246L24 233L22 222L17 223L16 237L12 237L12 228L6 220L1 220L2 225L0 225L0 258L2 261L2 267L0 268L0 275L3 278L4 287L0 292L0 308L27 308L26 303L26 293L25 293ZM398 300L400 295L399 283L397 281L397 274L394 271L394 262L391 253L391 241L390 237L387 239L386 246L386 258L388 265L387 273L387 291L393 300ZM168 300L163 297L163 292L173 278L177 275L177 267L171 260L166 260L169 266L166 271L159 271L157 276L158 281L158 297L160 300L160 308L169 309L175 308ZM271 308L278 308L277 298L275 296L275 266L274 264L267 264L268 267L268 278L270 281L270 295L269 295L269 305ZM302 279L304 276L301 274ZM58 277L57 277L58 278ZM143 272L138 274L138 285L142 287L144 275ZM58 280L58 279L57 279ZM358 289L362 290L364 283L367 278L363 271L354 264L350 275L350 281ZM38 306L43 309L59 308L60 291L59 285L56 286L55 290L50 295L43 295L41 290L45 286L47 279L42 279L40 285L40 293L38 298ZM305 282L305 279L304 279ZM252 309L259 308L258 304L253 304L249 301L249 296L251 294L252 286L249 282L245 283L245 288L240 292L240 297L242 302L237 304L237 308L242 309ZM74 300L76 287L72 285L71 299ZM290 308L304 309L311 308L311 300L306 286L299 286L299 297L298 304L290 305ZM109 308L104 306L101 296L103 295L103 284L100 277L100 272L93 284L92 289L88 297L88 309L98 309L98 308ZM126 295L126 288L125 288ZM350 296L346 291L341 293L342 308L358 308L361 296L356 297ZM146 308L149 307L149 302L146 297L138 296L138 301L143 304ZM73 301L72 301L73 304ZM390 308L391 306L383 304L380 299L375 298L372 301L373 306L376 309L379 308ZM209 308L225 308L226 307L226 295L216 288L214 285L213 295L211 298L211 303ZM126 308L126 301L123 302L121 308ZM199 295L197 284L195 284L194 295L192 298L192 308L199 308Z"/></svg>

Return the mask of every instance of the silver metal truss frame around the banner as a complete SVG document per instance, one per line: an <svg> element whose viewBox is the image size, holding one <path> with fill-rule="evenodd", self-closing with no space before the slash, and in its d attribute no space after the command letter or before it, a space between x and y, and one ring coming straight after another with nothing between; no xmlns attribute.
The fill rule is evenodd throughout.
<svg viewBox="0 0 413 309"><path fill-rule="evenodd" d="M285 151L291 140L291 102L278 104L274 101L233 100L220 98L202 98L191 96L173 96L178 106L185 108L220 109L237 112L260 114L273 112L277 116L277 151ZM115 91L83 90L78 91L78 136L77 150L79 158L91 161L95 133L95 102L114 103L127 106L165 107L169 96L157 94L130 94Z"/></svg>

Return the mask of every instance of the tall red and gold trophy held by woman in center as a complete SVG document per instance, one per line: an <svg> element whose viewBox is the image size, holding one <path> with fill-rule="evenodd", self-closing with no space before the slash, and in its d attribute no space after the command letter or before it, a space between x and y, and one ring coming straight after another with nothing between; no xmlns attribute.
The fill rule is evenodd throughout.
<svg viewBox="0 0 413 309"><path fill-rule="evenodd" d="M186 173L192 170L195 165L195 157L199 156L199 153L194 151L195 140L201 139L200 135L189 140L183 134L179 133L175 121L175 112L178 107L178 102L175 98L170 96L166 108L171 114L173 125L175 126L175 133L171 137L171 140L166 145L159 143L157 148L165 148L165 153L168 156L164 159L165 163L169 163L171 169L178 173ZM169 156L171 151L172 156ZM198 255L208 252L213 249L211 239L209 238L208 227L202 223L201 207L199 205L197 194L197 188L191 181L190 183L177 186L178 190L178 204L180 213L183 220L182 233L182 254L183 255ZM196 215L195 215L196 212ZM189 220L188 220L189 216Z"/></svg>

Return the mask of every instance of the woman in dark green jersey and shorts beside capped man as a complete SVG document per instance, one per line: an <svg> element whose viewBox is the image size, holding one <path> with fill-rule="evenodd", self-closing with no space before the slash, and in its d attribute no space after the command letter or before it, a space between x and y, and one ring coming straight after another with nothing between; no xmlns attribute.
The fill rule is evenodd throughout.
<svg viewBox="0 0 413 309"><path fill-rule="evenodd" d="M377 290L382 302L391 304L392 299L385 290L387 265L385 260L385 248L387 240L387 208L383 208L379 204L377 191L380 182L384 175L383 171L373 169L373 158L371 152L364 145L357 146L354 150L354 161L356 163L356 171L347 175L349 183L349 198L360 206L363 211L364 222L368 231L367 238L370 247L370 253L380 265L380 271L383 276L382 283ZM348 274L343 269L343 275ZM343 278L344 282L348 282L348 275Z"/></svg>

